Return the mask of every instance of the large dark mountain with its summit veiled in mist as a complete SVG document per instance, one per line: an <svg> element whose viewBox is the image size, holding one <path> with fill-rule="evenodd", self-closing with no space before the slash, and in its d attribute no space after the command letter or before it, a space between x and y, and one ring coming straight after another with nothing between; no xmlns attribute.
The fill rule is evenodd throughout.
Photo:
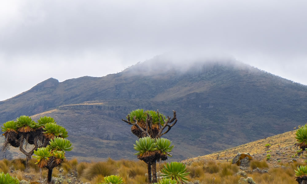
<svg viewBox="0 0 307 184"><path fill-rule="evenodd" d="M153 109L178 122L164 137L174 160L205 155L306 123L307 86L234 60L157 56L104 77L47 79L0 102L4 123L20 115L54 117L75 148L68 158L135 159L137 139L121 119Z"/></svg>

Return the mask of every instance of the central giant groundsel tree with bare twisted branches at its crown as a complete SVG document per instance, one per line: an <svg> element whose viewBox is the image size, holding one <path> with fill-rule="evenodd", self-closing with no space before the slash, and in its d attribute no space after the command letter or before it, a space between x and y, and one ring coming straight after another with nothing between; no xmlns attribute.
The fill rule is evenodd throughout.
<svg viewBox="0 0 307 184"><path fill-rule="evenodd" d="M131 132L136 135L138 138L150 137L152 140L146 138L146 140L141 140L142 144L146 141L150 141L147 144L153 146L153 144L158 144L159 148L155 149L157 145L153 146L152 149L155 150L146 150L145 156L141 154L138 155L138 159L143 160L148 165L148 180L151 182L151 172L153 176L153 182L157 182L157 170L156 162L160 160L166 160L167 156L171 156L168 152L173 149L173 146L170 146L171 142L166 139L159 139L162 135L169 132L169 130L177 123L176 111L173 111L173 118L165 117L159 111L136 109L131 111L127 116L126 120L122 119L129 125L132 125ZM140 143L134 145L134 149ZM140 144L140 145L142 145ZM136 149L137 150L137 149ZM137 150L139 151L139 150ZM148 156L148 157L147 157Z"/></svg>

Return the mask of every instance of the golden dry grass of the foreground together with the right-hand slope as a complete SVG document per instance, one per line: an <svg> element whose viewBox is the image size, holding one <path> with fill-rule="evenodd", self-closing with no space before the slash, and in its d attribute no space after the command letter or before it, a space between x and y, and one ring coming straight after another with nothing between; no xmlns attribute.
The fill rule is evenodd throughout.
<svg viewBox="0 0 307 184"><path fill-rule="evenodd" d="M282 152L283 148L287 148L285 153L286 159L291 159L291 154L296 153L294 147L295 131L286 132L277 136L268 137L266 139L254 141L248 144L243 144L235 148L219 151L210 155L199 156L197 158L191 158L184 160L187 163L187 171L190 174L187 176L189 182L202 184L233 184L238 183L240 178L252 177L256 183L261 184L294 184L295 181L294 170L299 165L305 165L304 158L297 158L297 162L277 162L273 161L276 158L276 151ZM270 153L266 152L265 144L271 144ZM278 144L279 147L278 148ZM251 161L250 167L245 171L245 175L242 176L242 170L237 165L231 164L231 159L223 159L223 157L234 157L238 152L249 152L251 155L264 155L272 154L272 159L266 161L265 158ZM275 156L273 156L275 154ZM279 153L280 155L281 153ZM282 153L282 156L284 153ZM290 154L290 155L286 155ZM284 160L286 160L284 159ZM36 181L40 174L39 168L34 164L34 159L29 162L29 169L25 169L25 159L14 159L0 161L0 171L9 172L12 176L19 178L20 180L26 180L30 182ZM161 170L166 162L157 163L157 171ZM255 168L266 169L267 173L252 172ZM13 172L10 172L10 168L13 168ZM63 170L63 171L62 171ZM240 171L240 172L239 172ZM78 162L77 159L67 160L61 163L59 167L53 169L53 177L61 177L64 175L66 179L62 181L62 184L70 183L75 176L76 182L90 182L99 183L103 181L103 177L111 174L119 175L122 177L125 184L146 184L147 183L147 165L143 161L131 161L131 160L113 160L107 159L105 162ZM43 178L47 177L47 170L42 170ZM70 180L69 180L70 179ZM247 184L247 182L241 181L241 184Z"/></svg>

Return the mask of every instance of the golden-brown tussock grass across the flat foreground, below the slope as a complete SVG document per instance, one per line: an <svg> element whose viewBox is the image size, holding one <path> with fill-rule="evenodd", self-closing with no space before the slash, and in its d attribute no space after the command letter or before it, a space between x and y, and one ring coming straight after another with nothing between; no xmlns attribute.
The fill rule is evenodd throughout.
<svg viewBox="0 0 307 184"><path fill-rule="evenodd" d="M29 163L29 169L19 170L24 165L25 159L15 159L15 160L1 160L0 170L5 170L10 173L11 176L17 177L20 180L26 180L29 182L35 182L39 179L39 169L37 167L31 166L34 160ZM33 162L33 163L32 163ZM157 163L157 172L159 168L163 168L166 162ZM244 178L252 177L256 183L261 184L294 184L297 183L294 179L294 169L297 166L305 165L302 162L296 163L278 163L277 167L272 167L265 160L251 162L251 168L259 167L268 170L268 173L260 174L258 172L247 172ZM10 167L14 166L13 172L10 172ZM280 166L280 167L279 167ZM236 184L240 180L241 176L238 174L239 167L233 165L230 162L215 162L212 160L199 160L197 162L192 162L186 166L187 171L190 174L187 176L189 182L195 182L196 180L202 184ZM60 174L59 169L64 171ZM62 174L65 179L61 184L71 183L73 176L72 173L77 173L76 183L100 183L103 182L103 177L111 174L119 175L122 177L125 184L146 184L148 183L146 173L147 165L142 161L131 161L131 160L113 160L107 159L105 162L78 162L76 159L65 160L59 167L53 168L52 176L60 177ZM42 169L43 179L47 177L47 169ZM213 179L214 178L214 179ZM247 184L241 182L241 184Z"/></svg>

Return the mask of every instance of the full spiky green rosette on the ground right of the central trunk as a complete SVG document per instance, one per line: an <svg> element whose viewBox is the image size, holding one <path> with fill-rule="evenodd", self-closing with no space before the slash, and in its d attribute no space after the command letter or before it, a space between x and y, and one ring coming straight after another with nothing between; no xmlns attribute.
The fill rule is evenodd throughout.
<svg viewBox="0 0 307 184"><path fill-rule="evenodd" d="M166 163L163 166L161 176L169 179L177 180L177 182L187 183L188 178L185 178L190 172L186 172L185 164L180 162Z"/></svg>

